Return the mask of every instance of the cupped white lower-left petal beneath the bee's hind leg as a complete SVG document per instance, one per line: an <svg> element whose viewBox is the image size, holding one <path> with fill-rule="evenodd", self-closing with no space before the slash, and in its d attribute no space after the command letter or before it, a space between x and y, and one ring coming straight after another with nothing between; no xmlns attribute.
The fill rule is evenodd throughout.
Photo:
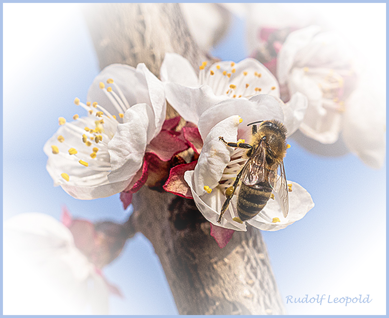
<svg viewBox="0 0 389 318"><path fill-rule="evenodd" d="M198 196L198 194L194 190L194 185L193 185L193 183L195 182L195 180L193 180L194 171L193 170L186 171L184 174L184 179L186 183L189 185L189 187L191 188L193 199L195 200L197 208L201 211L201 213L209 222L211 222L214 225L224 227L226 229L232 229L235 231L246 231L245 224L239 224L232 220L233 218L232 206L234 205L233 202L230 203L228 210L224 213L223 218L221 220L221 224L217 223L221 206L223 205L225 200L224 194L222 194L219 189L216 188L210 194L205 193L202 196Z"/></svg>

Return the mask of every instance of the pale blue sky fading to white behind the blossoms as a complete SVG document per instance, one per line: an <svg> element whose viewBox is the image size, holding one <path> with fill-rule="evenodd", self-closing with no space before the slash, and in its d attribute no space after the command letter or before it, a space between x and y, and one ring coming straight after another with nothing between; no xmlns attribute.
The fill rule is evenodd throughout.
<svg viewBox="0 0 389 318"><path fill-rule="evenodd" d="M76 200L53 187L45 168L42 148L58 129L58 117L71 120L75 113L82 115L73 100L85 100L99 72L79 7L4 4L3 8L4 220L32 211L59 219L64 204L75 217L125 220L131 208L123 210L119 195ZM385 18L381 11L378 8L376 20ZM213 53L236 62L245 58L243 31L243 21L235 18L228 39ZM364 45L374 45L366 41ZM326 302L286 304L287 312L385 314L386 167L370 169L352 154L319 157L293 140L288 142L292 147L285 159L287 178L310 192L315 207L286 229L262 232L283 299L370 294L373 301L347 307ZM178 313L159 260L141 234L128 241L104 273L124 294L124 299L111 297L112 314Z"/></svg>

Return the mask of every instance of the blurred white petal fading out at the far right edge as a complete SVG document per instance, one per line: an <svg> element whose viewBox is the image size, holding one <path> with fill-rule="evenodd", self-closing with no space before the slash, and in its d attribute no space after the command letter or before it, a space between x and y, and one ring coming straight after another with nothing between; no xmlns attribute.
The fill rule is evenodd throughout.
<svg viewBox="0 0 389 318"><path fill-rule="evenodd" d="M385 119L385 106L366 89L356 89L345 104L343 140L365 164L375 169L384 164Z"/></svg>

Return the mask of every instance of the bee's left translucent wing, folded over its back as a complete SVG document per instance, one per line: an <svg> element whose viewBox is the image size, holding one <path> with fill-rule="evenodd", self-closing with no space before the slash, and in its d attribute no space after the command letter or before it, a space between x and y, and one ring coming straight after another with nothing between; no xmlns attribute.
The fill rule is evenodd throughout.
<svg viewBox="0 0 389 318"><path fill-rule="evenodd" d="M265 179L265 162L265 146L264 143L261 142L244 167L242 182L245 185L254 185L257 182L263 182Z"/></svg>

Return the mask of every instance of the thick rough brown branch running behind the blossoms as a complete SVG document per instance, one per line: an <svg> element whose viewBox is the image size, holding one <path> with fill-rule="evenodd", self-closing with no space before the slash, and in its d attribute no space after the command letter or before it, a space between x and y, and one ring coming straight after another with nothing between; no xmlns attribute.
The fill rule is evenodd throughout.
<svg viewBox="0 0 389 318"><path fill-rule="evenodd" d="M89 5L85 16L100 67L145 63L156 75L165 52L205 59L175 3ZM220 249L193 200L143 187L131 226L154 246L180 314L284 314L258 229L235 232Z"/></svg>

